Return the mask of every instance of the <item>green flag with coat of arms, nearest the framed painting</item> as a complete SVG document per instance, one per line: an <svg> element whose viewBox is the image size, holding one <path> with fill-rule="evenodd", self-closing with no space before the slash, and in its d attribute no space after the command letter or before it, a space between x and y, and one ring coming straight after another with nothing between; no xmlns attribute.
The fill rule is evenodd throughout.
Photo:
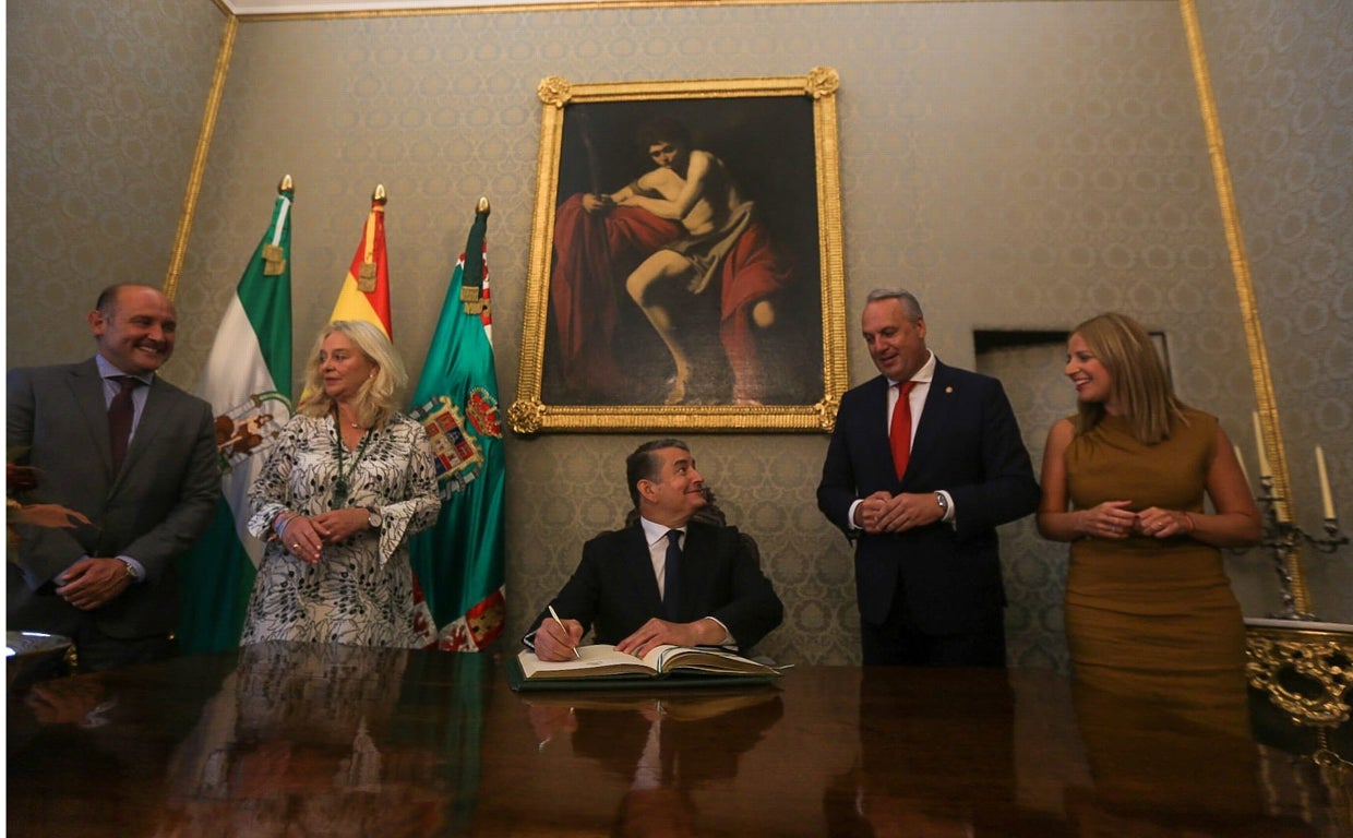
<svg viewBox="0 0 1353 838"><path fill-rule="evenodd" d="M446 288L411 416L437 459L441 514L410 542L414 575L437 647L479 651L503 631L503 458L480 198L465 252Z"/></svg>

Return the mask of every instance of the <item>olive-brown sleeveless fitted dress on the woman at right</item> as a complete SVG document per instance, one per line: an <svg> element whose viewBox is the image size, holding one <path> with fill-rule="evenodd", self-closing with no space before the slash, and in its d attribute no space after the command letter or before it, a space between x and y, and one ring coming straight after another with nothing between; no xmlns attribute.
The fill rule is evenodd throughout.
<svg viewBox="0 0 1353 838"><path fill-rule="evenodd" d="M1074 509L1131 501L1203 510L1216 417L1185 409L1169 439L1143 445L1105 416L1066 449ZM1218 548L1191 537L1072 542L1066 638L1077 681L1195 707L1245 694L1245 623Z"/></svg>

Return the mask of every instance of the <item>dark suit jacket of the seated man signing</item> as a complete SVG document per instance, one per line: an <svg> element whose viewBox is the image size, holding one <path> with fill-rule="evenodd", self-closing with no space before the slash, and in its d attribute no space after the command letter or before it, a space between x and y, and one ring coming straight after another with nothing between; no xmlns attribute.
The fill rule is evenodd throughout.
<svg viewBox="0 0 1353 838"><path fill-rule="evenodd" d="M714 617L744 653L779 625L785 608L736 527L691 521L683 542L678 621ZM663 616L644 528L635 523L583 544L578 570L551 605L560 617L591 625L598 643L612 644ZM548 609L532 631L545 619Z"/></svg>

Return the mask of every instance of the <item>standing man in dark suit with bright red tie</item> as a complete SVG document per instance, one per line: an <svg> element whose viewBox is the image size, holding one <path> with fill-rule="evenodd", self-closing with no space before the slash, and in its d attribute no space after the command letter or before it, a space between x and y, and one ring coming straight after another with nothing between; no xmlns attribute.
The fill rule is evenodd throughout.
<svg viewBox="0 0 1353 838"><path fill-rule="evenodd" d="M862 325L882 375L842 397L817 508L855 542L863 662L1004 666L996 527L1039 501L1015 412L925 348L912 294L871 291Z"/></svg>

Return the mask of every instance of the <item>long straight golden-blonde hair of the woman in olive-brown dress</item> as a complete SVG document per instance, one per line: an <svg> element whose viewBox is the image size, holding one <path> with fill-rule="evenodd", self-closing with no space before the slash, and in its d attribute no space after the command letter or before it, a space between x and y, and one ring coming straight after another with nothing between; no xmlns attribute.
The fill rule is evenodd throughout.
<svg viewBox="0 0 1353 838"><path fill-rule="evenodd" d="M1154 445L1169 439L1176 420L1184 421L1184 403L1170 387L1151 336L1126 314L1109 311L1073 329L1108 370L1112 398L1123 406L1123 418L1139 443ZM1104 418L1101 402L1081 402L1076 433L1088 433Z"/></svg>

